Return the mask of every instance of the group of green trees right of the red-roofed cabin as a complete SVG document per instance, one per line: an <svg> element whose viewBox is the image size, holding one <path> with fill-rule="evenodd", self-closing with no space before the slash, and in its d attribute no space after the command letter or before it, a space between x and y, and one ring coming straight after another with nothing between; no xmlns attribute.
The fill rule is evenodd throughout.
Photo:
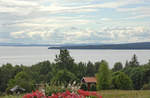
<svg viewBox="0 0 150 98"><path fill-rule="evenodd" d="M136 55L133 55L131 61L126 62L125 67L121 62L117 62L114 68L109 69L108 63L102 60L97 73L97 81L98 90L150 89L150 61L139 65Z"/></svg>

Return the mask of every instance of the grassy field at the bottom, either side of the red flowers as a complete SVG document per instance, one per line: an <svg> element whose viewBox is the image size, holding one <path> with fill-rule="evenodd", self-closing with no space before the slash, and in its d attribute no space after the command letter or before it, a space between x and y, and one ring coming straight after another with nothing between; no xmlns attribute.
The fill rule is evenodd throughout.
<svg viewBox="0 0 150 98"><path fill-rule="evenodd" d="M100 91L103 98L150 98L150 90L106 90ZM0 98L22 98L21 96L1 96Z"/></svg>

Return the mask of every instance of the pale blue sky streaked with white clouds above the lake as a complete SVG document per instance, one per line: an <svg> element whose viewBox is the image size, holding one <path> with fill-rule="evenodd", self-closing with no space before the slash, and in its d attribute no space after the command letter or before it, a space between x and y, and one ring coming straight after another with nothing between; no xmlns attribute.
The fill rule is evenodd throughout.
<svg viewBox="0 0 150 98"><path fill-rule="evenodd" d="M0 43L150 41L150 0L0 0Z"/></svg>

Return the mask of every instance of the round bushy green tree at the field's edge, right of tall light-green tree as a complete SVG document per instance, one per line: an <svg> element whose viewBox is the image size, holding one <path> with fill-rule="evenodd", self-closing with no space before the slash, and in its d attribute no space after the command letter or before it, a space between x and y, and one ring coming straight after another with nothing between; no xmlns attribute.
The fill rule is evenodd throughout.
<svg viewBox="0 0 150 98"><path fill-rule="evenodd" d="M112 75L112 85L114 89L132 89L132 80L123 72L115 72Z"/></svg>

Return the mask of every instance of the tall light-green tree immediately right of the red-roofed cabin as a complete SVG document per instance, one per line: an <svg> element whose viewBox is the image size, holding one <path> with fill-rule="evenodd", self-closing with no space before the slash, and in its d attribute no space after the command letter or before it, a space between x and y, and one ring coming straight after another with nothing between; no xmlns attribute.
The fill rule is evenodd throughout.
<svg viewBox="0 0 150 98"><path fill-rule="evenodd" d="M110 87L110 71L108 68L108 63L104 60L101 61L99 71L96 75L97 78L97 89L106 90Z"/></svg>

